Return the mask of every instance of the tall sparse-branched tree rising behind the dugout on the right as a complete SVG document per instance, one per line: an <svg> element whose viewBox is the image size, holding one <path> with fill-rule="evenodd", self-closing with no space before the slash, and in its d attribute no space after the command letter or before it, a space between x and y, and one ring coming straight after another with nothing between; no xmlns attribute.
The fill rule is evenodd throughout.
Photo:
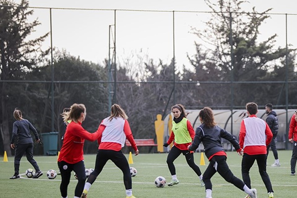
<svg viewBox="0 0 297 198"><path fill-rule="evenodd" d="M193 29L193 32L211 46L207 49L206 64L200 68L202 73L212 69L217 71L209 73L210 81L226 82L231 81L232 77L234 81L262 81L271 68L281 66L279 62L285 57L286 49L275 46L277 35L272 33L266 40L258 41L259 27L269 18L268 12L271 9L259 13L254 7L252 12L244 12L241 6L248 1L204 1L213 11L212 17L205 22L206 29ZM199 68L196 61L192 61L192 64L195 68ZM284 80L284 78L278 80ZM255 101L259 93L265 93L263 90L267 88L266 85L258 85L234 84L235 106L243 106L247 101ZM209 89L208 92L212 90ZM231 104L230 88L228 91L221 92L221 96L225 98L220 101L221 105Z"/></svg>

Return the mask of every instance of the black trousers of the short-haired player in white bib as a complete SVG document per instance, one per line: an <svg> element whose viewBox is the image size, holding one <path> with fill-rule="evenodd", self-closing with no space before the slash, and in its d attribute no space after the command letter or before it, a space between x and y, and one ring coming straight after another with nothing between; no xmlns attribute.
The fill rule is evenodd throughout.
<svg viewBox="0 0 297 198"><path fill-rule="evenodd" d="M241 174L242 174L243 182L249 188L251 188L251 179L250 179L249 171L256 160L259 168L259 173L265 184L267 192L273 192L269 175L266 172L266 159L267 159L266 154L248 155L244 153L241 161Z"/></svg>

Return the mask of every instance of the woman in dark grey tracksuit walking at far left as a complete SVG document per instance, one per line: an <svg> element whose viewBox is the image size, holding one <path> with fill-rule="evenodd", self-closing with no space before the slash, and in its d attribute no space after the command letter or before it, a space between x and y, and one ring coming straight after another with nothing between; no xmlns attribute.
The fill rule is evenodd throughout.
<svg viewBox="0 0 297 198"><path fill-rule="evenodd" d="M43 173L39 169L37 162L33 159L33 139L30 134L30 130L33 131L35 135L35 142L39 143L40 139L38 137L37 130L28 120L23 118L22 112L17 108L13 112L13 117L16 121L13 123L10 147L15 149L15 174L10 179L19 178L19 163L24 155L24 152L26 153L27 160L36 170L36 173L32 178L39 178ZM16 137L17 143L15 146L14 142Z"/></svg>

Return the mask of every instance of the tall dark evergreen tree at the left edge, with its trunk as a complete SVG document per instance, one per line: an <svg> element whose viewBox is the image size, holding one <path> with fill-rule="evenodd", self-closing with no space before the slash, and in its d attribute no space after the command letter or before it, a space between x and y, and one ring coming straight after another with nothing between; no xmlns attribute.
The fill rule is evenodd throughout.
<svg viewBox="0 0 297 198"><path fill-rule="evenodd" d="M7 112L10 86L6 80L19 79L22 72L36 65L33 52L41 51L41 42L48 35L27 40L28 35L40 24L38 20L28 21L28 16L33 14L28 6L27 0L22 0L19 4L11 0L0 0L0 130L4 150L8 155L11 155Z"/></svg>

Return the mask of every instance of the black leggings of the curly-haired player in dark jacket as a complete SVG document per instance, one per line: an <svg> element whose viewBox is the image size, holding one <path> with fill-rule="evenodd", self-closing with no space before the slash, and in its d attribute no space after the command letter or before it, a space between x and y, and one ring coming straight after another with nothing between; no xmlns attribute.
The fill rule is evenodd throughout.
<svg viewBox="0 0 297 198"><path fill-rule="evenodd" d="M210 179L216 172L218 172L227 182L232 183L234 186L243 191L244 183L233 175L227 165L226 156L213 156L211 158L209 165L203 174L205 190L212 189Z"/></svg>

